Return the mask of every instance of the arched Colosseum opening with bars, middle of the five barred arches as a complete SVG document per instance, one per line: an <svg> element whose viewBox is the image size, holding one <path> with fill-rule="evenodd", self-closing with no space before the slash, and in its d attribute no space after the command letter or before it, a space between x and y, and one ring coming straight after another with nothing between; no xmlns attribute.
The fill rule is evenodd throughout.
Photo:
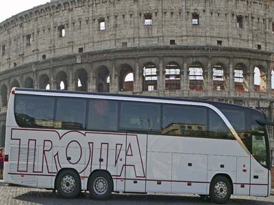
<svg viewBox="0 0 274 205"><path fill-rule="evenodd" d="M202 91L205 89L203 80L203 68L201 64L195 63L189 66L189 89Z"/></svg>

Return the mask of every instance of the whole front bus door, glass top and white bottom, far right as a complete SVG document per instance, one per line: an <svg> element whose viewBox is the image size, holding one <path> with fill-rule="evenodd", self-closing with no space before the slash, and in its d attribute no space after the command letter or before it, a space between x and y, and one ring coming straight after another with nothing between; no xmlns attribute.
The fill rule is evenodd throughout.
<svg viewBox="0 0 274 205"><path fill-rule="evenodd" d="M250 195L267 196L269 187L269 169L266 166L267 152L264 133L252 133Z"/></svg>

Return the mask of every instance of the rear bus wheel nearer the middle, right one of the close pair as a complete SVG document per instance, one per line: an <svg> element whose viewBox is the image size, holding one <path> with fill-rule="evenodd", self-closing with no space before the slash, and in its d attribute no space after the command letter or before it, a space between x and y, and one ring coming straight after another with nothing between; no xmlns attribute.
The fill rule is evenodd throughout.
<svg viewBox="0 0 274 205"><path fill-rule="evenodd" d="M96 200L106 200L113 190L113 180L107 172L95 172L88 183L90 196Z"/></svg>

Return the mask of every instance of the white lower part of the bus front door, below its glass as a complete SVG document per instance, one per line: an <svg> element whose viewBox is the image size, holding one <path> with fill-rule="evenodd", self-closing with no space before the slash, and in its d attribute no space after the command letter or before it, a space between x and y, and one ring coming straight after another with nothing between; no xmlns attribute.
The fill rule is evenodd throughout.
<svg viewBox="0 0 274 205"><path fill-rule="evenodd" d="M250 195L265 197L268 195L269 170L251 157Z"/></svg>

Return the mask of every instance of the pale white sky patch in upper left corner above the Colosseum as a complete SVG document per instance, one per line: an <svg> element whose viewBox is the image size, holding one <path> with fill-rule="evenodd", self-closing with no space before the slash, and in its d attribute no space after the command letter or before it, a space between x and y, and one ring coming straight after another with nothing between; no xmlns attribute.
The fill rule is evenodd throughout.
<svg viewBox="0 0 274 205"><path fill-rule="evenodd" d="M50 0L1 0L0 22L37 5L45 4Z"/></svg>

